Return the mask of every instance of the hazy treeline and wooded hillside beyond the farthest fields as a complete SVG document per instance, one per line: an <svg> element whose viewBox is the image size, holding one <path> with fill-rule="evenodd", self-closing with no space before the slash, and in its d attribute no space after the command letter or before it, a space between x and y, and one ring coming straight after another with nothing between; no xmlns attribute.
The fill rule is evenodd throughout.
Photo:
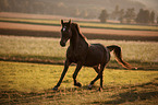
<svg viewBox="0 0 158 105"><path fill-rule="evenodd" d="M71 0L70 0L71 1ZM73 18L96 19L99 16L100 22L107 20L120 21L120 23L156 23L156 14L154 11L136 8L120 9L119 5L110 9L100 10L99 7L84 7L82 4L73 5L62 0L0 0L0 12L20 12L34 14L53 14ZM121 5L122 7L122 5ZM100 13L101 11L101 13Z"/></svg>

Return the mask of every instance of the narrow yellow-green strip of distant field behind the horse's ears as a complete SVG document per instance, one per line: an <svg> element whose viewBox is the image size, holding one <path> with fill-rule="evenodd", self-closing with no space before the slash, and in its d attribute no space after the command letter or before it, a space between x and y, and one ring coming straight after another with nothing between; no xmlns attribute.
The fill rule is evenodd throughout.
<svg viewBox="0 0 158 105"><path fill-rule="evenodd" d="M0 22L60 26L60 20L48 20L48 19L0 18ZM127 25L127 24L112 24L112 23L104 24L104 23L97 23L97 22L82 22L82 21L76 21L76 22L78 23L81 27L90 27L90 28L158 31L158 26L155 26L155 25Z"/></svg>

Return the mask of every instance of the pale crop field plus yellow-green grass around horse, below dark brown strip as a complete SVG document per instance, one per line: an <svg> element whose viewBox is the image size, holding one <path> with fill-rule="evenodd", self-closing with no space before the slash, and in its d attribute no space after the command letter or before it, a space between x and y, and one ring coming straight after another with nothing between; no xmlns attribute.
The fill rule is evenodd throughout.
<svg viewBox="0 0 158 105"><path fill-rule="evenodd" d="M105 46L113 44L121 46L123 59L138 67L138 70L123 69L114 61L111 52L111 61L104 71L102 92L97 91L99 81L93 90L87 90L87 85L96 77L96 72L87 67L83 67L77 75L83 88L75 88L72 79L74 66L70 67L60 90L53 92L51 89L60 78L69 45L62 48L59 40L59 38L0 36L1 104L158 103L158 43L88 39L89 43L101 43Z"/></svg>

